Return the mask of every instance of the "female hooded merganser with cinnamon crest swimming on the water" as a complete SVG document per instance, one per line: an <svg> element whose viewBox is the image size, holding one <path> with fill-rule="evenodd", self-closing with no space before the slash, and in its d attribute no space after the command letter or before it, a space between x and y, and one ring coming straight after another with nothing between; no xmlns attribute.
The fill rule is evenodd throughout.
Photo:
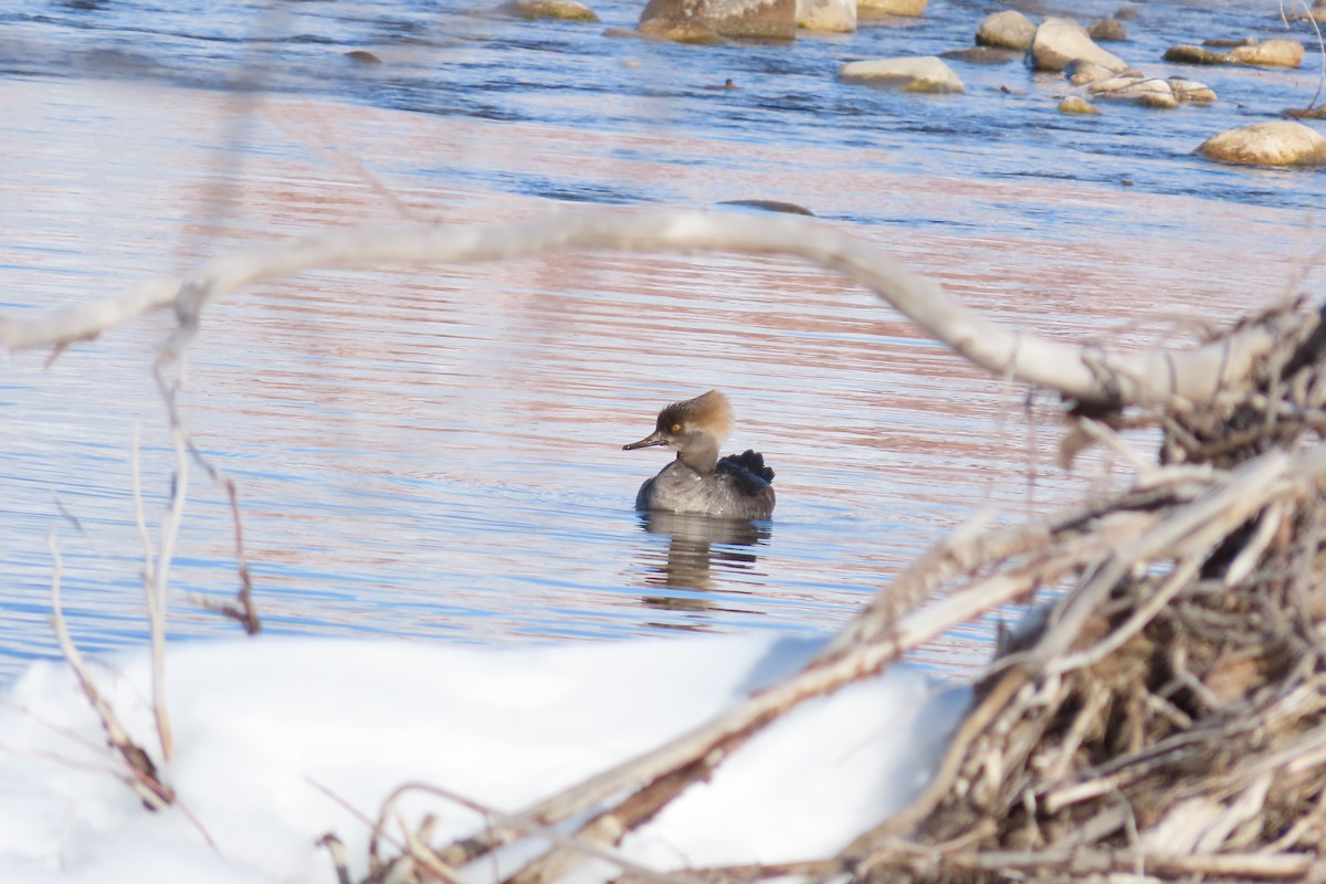
<svg viewBox="0 0 1326 884"><path fill-rule="evenodd" d="M769 518L773 513L773 470L764 455L719 457L719 447L732 431L732 406L717 390L688 402L675 402L659 412L658 427L622 451L667 445L676 460L640 485L635 509L699 513L721 518Z"/></svg>

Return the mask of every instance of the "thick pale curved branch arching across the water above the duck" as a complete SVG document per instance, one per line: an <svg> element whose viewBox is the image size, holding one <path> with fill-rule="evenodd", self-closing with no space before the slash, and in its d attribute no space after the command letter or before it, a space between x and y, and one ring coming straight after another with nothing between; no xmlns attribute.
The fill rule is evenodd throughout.
<svg viewBox="0 0 1326 884"><path fill-rule="evenodd" d="M33 319L0 315L0 345L9 350L64 346L170 305L187 327L216 298L316 268L496 261L572 248L801 257L874 290L983 368L1106 407L1209 400L1248 378L1274 343L1272 331L1260 325L1188 350L1122 354L1059 343L987 319L960 305L934 280L825 221L788 215L595 208L481 228L349 228L289 240L210 261L188 280L158 280L119 298Z"/></svg>

